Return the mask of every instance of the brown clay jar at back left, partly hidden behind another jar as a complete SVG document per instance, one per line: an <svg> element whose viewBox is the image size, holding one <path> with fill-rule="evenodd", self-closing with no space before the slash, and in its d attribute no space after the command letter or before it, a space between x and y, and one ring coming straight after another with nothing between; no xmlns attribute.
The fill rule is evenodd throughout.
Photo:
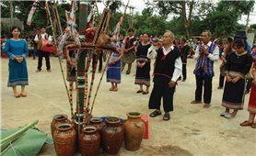
<svg viewBox="0 0 256 156"><path fill-rule="evenodd" d="M52 123L51 123L51 132L52 132L52 138L53 138L53 133L57 129L57 127L60 124L64 123L71 123L69 119L67 119L66 115L56 115L52 118Z"/></svg>

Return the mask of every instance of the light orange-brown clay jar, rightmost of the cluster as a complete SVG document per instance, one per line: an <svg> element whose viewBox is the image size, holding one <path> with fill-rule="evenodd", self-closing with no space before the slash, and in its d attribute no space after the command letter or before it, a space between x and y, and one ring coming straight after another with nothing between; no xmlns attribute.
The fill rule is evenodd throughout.
<svg viewBox="0 0 256 156"><path fill-rule="evenodd" d="M124 144L126 150L139 150L145 133L145 122L138 112L127 113L127 120L123 124Z"/></svg>

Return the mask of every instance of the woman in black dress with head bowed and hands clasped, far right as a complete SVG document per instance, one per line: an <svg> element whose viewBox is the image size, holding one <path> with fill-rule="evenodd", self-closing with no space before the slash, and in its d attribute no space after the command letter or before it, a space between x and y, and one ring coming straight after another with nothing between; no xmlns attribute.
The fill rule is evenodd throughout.
<svg viewBox="0 0 256 156"><path fill-rule="evenodd" d="M222 117L234 118L239 109L243 109L245 75L250 72L252 58L244 49L245 43L242 39L236 39L233 43L234 52L227 57L226 84L222 97L222 106L226 111L221 113ZM234 109L229 113L229 109Z"/></svg>

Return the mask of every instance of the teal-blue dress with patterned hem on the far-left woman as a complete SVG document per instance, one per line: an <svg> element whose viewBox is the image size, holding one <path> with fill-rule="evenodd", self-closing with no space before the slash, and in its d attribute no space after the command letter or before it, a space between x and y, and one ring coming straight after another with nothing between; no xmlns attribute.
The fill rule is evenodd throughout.
<svg viewBox="0 0 256 156"><path fill-rule="evenodd" d="M28 44L25 39L7 39L4 52L9 58L9 79L8 87L16 85L29 85L28 69L26 58L29 55ZM18 62L16 57L23 57L23 61Z"/></svg>

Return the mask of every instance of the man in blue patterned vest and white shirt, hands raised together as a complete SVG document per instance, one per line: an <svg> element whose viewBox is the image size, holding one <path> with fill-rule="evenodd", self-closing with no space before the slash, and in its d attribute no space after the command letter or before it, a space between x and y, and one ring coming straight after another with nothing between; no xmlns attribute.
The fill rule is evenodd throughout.
<svg viewBox="0 0 256 156"><path fill-rule="evenodd" d="M202 104L202 92L204 85L204 108L211 105L212 98L212 81L215 75L214 61L219 58L219 49L211 41L212 33L209 30L204 30L201 34L201 41L203 42L197 46L195 50L194 59L197 63L193 73L196 79L195 99L191 104Z"/></svg>

